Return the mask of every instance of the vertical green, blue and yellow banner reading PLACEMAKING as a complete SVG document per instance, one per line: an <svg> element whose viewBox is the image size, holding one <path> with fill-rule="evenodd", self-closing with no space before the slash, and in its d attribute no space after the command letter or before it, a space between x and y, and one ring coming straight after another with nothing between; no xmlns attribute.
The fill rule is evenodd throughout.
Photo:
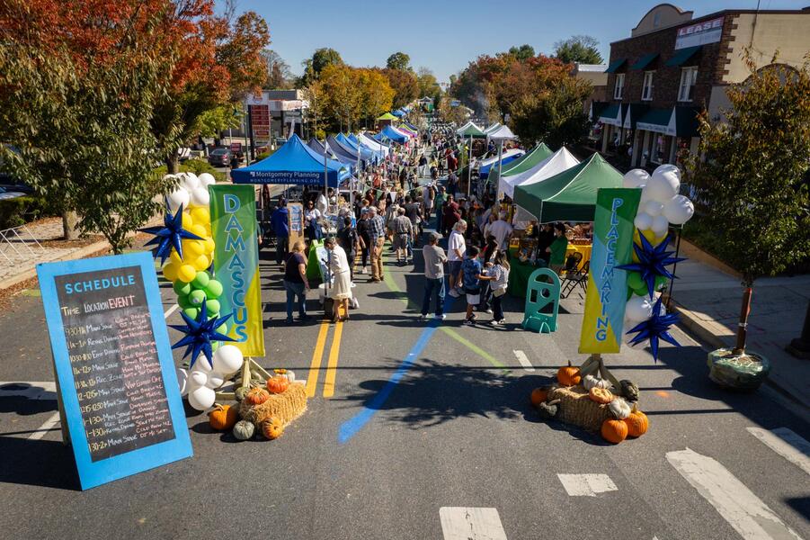
<svg viewBox="0 0 810 540"><path fill-rule="evenodd" d="M640 199L637 188L601 189L596 196L580 353L618 353L621 348L628 273L617 266L628 265L633 257L633 220Z"/></svg>

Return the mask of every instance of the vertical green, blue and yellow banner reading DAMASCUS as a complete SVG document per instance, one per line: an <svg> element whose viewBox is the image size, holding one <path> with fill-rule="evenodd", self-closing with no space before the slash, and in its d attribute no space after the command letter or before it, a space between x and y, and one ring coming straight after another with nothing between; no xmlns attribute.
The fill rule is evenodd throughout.
<svg viewBox="0 0 810 540"><path fill-rule="evenodd" d="M259 244L256 238L256 195L253 185L210 185L214 274L222 284L219 297L227 335L245 356L264 356Z"/></svg>

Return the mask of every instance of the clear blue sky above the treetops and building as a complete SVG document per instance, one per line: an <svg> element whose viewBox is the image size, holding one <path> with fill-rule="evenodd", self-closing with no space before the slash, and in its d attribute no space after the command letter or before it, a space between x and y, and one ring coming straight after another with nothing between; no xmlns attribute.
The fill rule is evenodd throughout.
<svg viewBox="0 0 810 540"><path fill-rule="evenodd" d="M401 50L411 65L429 67L440 82L480 54L494 54L529 43L551 53L554 43L574 34L599 40L608 58L610 41L630 35L641 17L659 2L637 0L239 0L238 10L254 10L270 25L271 49L292 71L320 47L331 47L353 66L385 66ZM674 2L694 16L722 9L753 9L756 0ZM761 0L761 9L800 9L810 0Z"/></svg>

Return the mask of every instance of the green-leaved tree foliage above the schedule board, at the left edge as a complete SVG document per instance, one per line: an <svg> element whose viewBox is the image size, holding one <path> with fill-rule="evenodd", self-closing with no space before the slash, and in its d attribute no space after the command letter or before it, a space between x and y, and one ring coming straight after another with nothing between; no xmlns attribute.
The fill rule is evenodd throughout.
<svg viewBox="0 0 810 540"><path fill-rule="evenodd" d="M0 150L6 166L60 211L76 211L78 229L101 233L114 253L171 187L153 171L163 152L150 122L171 68L137 40L82 66L64 49L0 41L0 99L15 103L0 107L0 139L19 145Z"/></svg>

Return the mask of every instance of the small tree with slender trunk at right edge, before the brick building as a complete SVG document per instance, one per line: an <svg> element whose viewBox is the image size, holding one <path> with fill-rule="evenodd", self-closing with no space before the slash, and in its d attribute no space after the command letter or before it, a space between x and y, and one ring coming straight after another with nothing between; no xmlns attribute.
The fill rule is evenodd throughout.
<svg viewBox="0 0 810 540"><path fill-rule="evenodd" d="M743 275L743 313L758 277L810 257L810 58L798 69L745 61L751 75L726 87L723 117L699 118L687 166L717 255ZM734 353L744 349L740 326Z"/></svg>

